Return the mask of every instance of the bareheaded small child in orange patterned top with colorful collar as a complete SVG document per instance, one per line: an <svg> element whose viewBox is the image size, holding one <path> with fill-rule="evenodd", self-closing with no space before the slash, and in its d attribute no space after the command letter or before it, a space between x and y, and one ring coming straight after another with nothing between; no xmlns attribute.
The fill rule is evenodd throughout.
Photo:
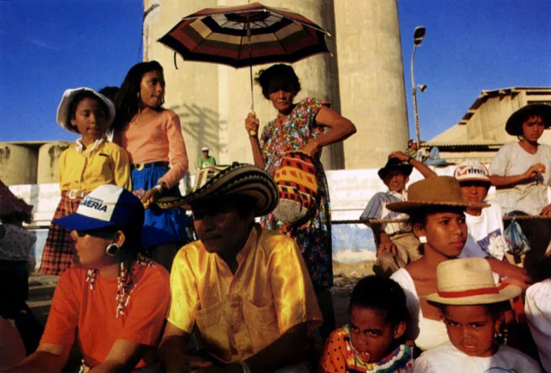
<svg viewBox="0 0 551 373"><path fill-rule="evenodd" d="M350 322L326 341L320 372L408 372L413 350L404 344L408 309L400 285L368 276L350 298Z"/></svg>

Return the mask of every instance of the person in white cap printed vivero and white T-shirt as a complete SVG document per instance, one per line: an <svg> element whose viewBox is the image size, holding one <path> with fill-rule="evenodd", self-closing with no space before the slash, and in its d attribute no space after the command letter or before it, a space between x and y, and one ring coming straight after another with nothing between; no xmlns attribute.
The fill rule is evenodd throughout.
<svg viewBox="0 0 551 373"><path fill-rule="evenodd" d="M453 177L459 181L461 196L465 202L483 203L490 189L488 169L479 161L464 161L457 166ZM459 258L486 258L492 270L501 277L514 277L530 282L526 270L511 265L506 259L508 245L503 238L503 217L501 206L495 201L488 202L488 208L468 207L465 221L468 238Z"/></svg>

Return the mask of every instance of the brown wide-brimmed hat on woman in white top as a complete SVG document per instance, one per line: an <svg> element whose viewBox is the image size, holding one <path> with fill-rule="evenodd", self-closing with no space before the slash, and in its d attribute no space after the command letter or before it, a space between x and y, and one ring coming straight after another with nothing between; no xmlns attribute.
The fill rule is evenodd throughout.
<svg viewBox="0 0 551 373"><path fill-rule="evenodd" d="M420 209L437 207L487 208L487 203L467 203L461 197L459 181L449 176L429 177L411 184L408 200L388 203L386 208L409 214Z"/></svg>

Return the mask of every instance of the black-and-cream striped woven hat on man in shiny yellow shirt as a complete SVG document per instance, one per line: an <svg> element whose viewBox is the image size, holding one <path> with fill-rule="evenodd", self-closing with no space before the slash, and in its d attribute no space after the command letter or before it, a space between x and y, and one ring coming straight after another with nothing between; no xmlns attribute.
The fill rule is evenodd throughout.
<svg viewBox="0 0 551 373"><path fill-rule="evenodd" d="M220 196L250 196L256 201L256 216L271 212L279 201L278 186L271 176L247 163L216 165L197 172L191 193L183 197L164 197L156 203L160 208L191 209L191 204Z"/></svg>

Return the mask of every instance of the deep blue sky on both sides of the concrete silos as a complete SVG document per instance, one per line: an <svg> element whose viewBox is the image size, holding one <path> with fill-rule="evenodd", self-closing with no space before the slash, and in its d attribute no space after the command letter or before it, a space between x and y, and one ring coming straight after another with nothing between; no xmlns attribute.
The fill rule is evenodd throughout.
<svg viewBox="0 0 551 373"><path fill-rule="evenodd" d="M74 139L55 121L61 94L119 85L141 61L141 4L0 0L0 141ZM416 83L428 85L417 97L422 139L457 123L481 90L551 86L551 0L399 0L398 6L411 137L415 26L427 30L415 56Z"/></svg>

